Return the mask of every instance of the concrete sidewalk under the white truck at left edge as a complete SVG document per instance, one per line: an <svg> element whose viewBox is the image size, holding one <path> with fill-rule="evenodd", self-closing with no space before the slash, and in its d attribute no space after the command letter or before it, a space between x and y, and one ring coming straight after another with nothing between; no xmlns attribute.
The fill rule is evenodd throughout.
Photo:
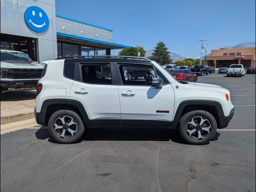
<svg viewBox="0 0 256 192"><path fill-rule="evenodd" d="M36 90L10 90L3 93L1 125L34 118Z"/></svg>

